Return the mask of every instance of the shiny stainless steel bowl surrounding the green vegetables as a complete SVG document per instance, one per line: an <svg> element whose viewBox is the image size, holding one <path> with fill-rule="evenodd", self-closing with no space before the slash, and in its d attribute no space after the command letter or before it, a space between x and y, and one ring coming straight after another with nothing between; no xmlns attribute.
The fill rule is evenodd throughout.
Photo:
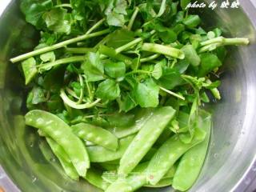
<svg viewBox="0 0 256 192"><path fill-rule="evenodd" d="M204 15L206 27L221 26L226 36L250 38L251 43L246 47L230 47L220 74L222 101L206 106L214 114L214 130L202 174L190 190L193 192L254 189L250 186L256 176L256 5L253 2L240 0L238 10L196 10ZM65 178L54 159L48 164L38 149L38 136L31 130L22 132L23 123L18 120L17 110L12 109L14 96L22 96L22 78L15 70L17 64L10 64L8 58L19 50L22 41L32 43L31 37L35 35L18 14L16 3L12 1L0 14L0 164L22 191L97 191L86 182ZM29 45L22 46L26 50ZM15 94L8 90L14 90ZM1 169L0 186L6 191L18 191Z"/></svg>

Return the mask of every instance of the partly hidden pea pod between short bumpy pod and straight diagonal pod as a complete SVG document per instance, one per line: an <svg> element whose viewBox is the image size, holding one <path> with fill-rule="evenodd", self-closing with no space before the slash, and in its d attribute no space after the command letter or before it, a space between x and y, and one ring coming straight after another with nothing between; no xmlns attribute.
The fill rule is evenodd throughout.
<svg viewBox="0 0 256 192"><path fill-rule="evenodd" d="M118 138L125 138L131 134L138 133L142 129L146 121L154 114L153 109L142 109L139 110L135 115L135 123L132 126L122 127L116 126L108 128L108 130L113 133Z"/></svg>

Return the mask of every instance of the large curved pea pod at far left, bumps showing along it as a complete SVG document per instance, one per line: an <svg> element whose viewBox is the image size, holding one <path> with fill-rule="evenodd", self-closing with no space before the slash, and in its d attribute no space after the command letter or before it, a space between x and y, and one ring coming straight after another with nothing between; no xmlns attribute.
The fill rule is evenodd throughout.
<svg viewBox="0 0 256 192"><path fill-rule="evenodd" d="M25 115L25 118L26 125L42 130L50 138L53 138L58 145L62 146L78 174L82 177L86 176L86 170L90 167L86 147L73 134L66 122L44 110L31 110Z"/></svg>

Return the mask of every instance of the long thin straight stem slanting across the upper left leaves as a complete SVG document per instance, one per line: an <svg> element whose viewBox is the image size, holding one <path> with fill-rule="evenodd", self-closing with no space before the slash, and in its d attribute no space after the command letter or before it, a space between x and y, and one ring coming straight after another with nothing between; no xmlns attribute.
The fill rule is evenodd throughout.
<svg viewBox="0 0 256 192"><path fill-rule="evenodd" d="M25 60L26 58L31 58L31 57L34 57L38 54L45 54L46 52L49 52L51 50L57 50L59 48L62 48L64 46L68 46L74 42L81 42L83 40L86 40L88 38L94 38L94 37L98 37L102 34L108 34L110 33L110 29L106 29L106 30L101 30L101 31L98 31L98 32L95 32L94 34L84 34L82 36L78 36L77 38L71 38L69 40L66 40L65 42L59 42L53 46L46 46L42 49L39 49L39 50L34 50L34 51L31 51L30 53L27 53L27 54L22 54L16 58L11 58L10 59L10 62L20 62L22 60Z"/></svg>

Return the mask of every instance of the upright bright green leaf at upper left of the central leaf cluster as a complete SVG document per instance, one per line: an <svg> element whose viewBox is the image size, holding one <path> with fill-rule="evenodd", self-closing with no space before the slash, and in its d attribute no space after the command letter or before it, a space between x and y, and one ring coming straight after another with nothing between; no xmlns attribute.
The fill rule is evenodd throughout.
<svg viewBox="0 0 256 192"><path fill-rule="evenodd" d="M86 56L86 62L83 63L82 69L86 74L88 82L97 82L103 80L104 77L104 66L101 62L99 54L88 53Z"/></svg>

